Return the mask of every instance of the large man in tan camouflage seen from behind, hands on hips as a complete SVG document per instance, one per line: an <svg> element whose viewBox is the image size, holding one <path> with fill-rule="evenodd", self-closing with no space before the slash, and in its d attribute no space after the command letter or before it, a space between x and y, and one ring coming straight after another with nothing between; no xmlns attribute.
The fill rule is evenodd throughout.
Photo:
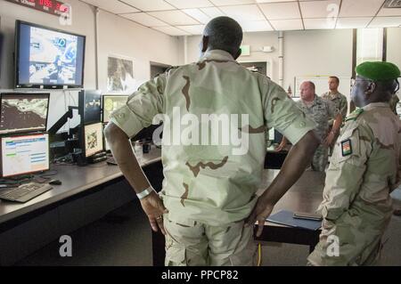
<svg viewBox="0 0 401 284"><path fill-rule="evenodd" d="M201 60L142 85L111 115L105 130L152 230L159 228L166 235L167 265L251 265L256 251L252 222L259 221L260 235L271 205L299 179L317 147L315 123L302 116L285 91L235 61L241 40L241 26L235 20L211 20L202 37ZM164 118L165 179L160 195L151 189L128 141L158 114ZM213 125L229 121L227 116L231 125L214 131ZM180 130L176 119L178 126L187 127ZM265 132L271 127L288 135L294 149L272 185L257 198ZM230 143L233 136L242 142L249 137L249 145L233 151L239 150ZM215 140L219 143L210 143ZM250 215L251 225L246 226Z"/></svg>

